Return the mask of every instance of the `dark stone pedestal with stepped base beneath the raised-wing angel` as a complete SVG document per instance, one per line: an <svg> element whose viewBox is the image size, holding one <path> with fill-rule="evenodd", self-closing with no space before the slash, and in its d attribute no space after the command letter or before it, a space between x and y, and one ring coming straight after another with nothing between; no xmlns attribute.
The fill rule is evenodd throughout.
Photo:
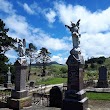
<svg viewBox="0 0 110 110"><path fill-rule="evenodd" d="M86 110L88 108L88 98L83 90L82 64L71 54L68 57L67 65L68 83L62 110Z"/></svg>

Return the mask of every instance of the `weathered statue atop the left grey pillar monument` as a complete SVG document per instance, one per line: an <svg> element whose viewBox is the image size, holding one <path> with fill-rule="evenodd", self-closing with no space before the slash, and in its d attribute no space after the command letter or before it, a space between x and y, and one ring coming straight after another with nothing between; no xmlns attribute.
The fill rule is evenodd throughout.
<svg viewBox="0 0 110 110"><path fill-rule="evenodd" d="M25 47L26 47L25 39L23 39L23 41L18 39L17 42L18 42L19 57L25 57Z"/></svg>

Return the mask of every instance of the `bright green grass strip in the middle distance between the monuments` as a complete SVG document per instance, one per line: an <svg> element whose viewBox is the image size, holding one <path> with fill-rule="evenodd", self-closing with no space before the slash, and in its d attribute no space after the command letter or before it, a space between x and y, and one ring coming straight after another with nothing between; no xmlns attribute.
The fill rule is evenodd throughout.
<svg viewBox="0 0 110 110"><path fill-rule="evenodd" d="M60 84L60 83L66 83L67 78L49 78L46 80L41 80L37 82L37 84Z"/></svg>

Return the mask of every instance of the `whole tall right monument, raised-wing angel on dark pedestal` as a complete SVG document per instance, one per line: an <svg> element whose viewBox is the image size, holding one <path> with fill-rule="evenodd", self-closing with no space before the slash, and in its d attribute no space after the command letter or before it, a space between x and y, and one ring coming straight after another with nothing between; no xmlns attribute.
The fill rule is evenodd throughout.
<svg viewBox="0 0 110 110"><path fill-rule="evenodd" d="M83 56L79 48L79 22L72 23L68 27L72 33L73 49L66 64L68 65L67 91L62 104L62 110L86 110L88 108L88 98L83 89Z"/></svg>

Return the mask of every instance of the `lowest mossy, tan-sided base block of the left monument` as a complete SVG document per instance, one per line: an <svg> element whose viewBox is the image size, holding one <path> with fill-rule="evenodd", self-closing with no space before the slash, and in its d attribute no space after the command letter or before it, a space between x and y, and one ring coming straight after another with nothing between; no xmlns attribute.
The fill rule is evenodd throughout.
<svg viewBox="0 0 110 110"><path fill-rule="evenodd" d="M32 105L31 97L25 97L21 99L8 98L7 105L10 109L21 110L23 107L29 107Z"/></svg>

